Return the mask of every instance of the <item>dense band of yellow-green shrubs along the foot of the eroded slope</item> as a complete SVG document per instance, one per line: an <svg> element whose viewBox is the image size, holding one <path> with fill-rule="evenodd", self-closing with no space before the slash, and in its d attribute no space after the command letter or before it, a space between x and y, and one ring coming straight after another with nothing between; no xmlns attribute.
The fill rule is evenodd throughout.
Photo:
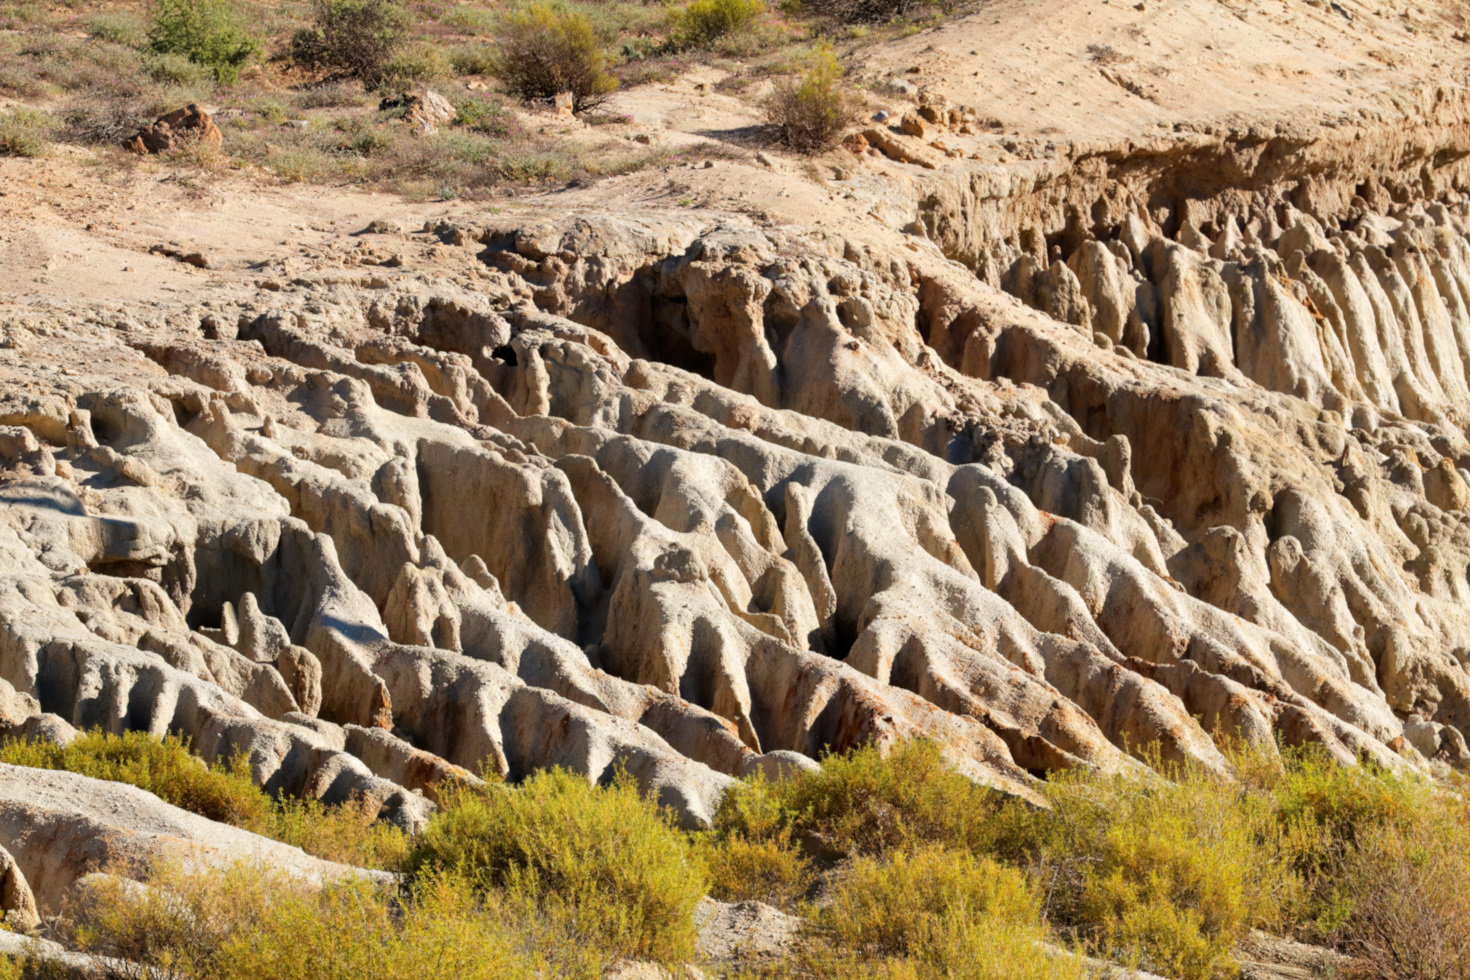
<svg viewBox="0 0 1470 980"><path fill-rule="evenodd" d="M551 770L456 790L416 836L353 807L272 801L178 739L12 741L0 761L141 786L398 876L315 889L250 862L165 865L146 893L109 877L46 930L126 961L128 976L595 979L628 959L678 971L701 961L704 896L800 921L784 954L704 962L711 976L1067 980L1111 962L1227 980L1261 930L1311 948L1320 976L1470 971L1466 798L1311 751L1241 749L1235 779L1073 771L1035 807L910 742L747 779L692 833L626 777ZM31 968L22 956L9 971Z"/></svg>

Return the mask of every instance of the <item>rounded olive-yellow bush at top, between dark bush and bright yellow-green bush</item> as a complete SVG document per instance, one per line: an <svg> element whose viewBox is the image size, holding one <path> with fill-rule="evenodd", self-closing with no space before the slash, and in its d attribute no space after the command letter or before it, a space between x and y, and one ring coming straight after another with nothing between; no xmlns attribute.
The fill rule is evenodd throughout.
<svg viewBox="0 0 1470 980"><path fill-rule="evenodd" d="M582 13L534 3L506 15L494 60L495 75L522 98L572 93L576 112L595 109L617 88L607 56Z"/></svg>

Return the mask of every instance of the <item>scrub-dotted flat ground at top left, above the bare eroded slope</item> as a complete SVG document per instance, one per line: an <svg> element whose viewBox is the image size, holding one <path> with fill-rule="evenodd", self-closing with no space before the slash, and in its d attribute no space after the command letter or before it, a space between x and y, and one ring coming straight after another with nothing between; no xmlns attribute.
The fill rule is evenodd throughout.
<svg viewBox="0 0 1470 980"><path fill-rule="evenodd" d="M666 163L669 150L622 138L625 119L603 107L620 88L700 65L773 79L753 109L778 140L811 151L854 119L833 40L873 44L947 12L764 0L10 0L0 7L0 98L18 104L0 112L0 154L41 156L53 144L110 151L200 103L223 141L169 154L185 167L484 197ZM457 115L416 137L400 122L403 96L426 88ZM535 109L563 93L603 132L548 135ZM701 151L726 150L706 143L692 153Z"/></svg>

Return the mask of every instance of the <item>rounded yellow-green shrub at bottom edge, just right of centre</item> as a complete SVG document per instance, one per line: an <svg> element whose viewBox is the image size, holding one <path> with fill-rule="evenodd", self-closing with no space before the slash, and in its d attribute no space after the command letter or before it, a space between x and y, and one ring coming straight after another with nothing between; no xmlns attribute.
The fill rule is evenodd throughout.
<svg viewBox="0 0 1470 980"><path fill-rule="evenodd" d="M1080 979L1076 956L1048 952L1026 877L963 851L923 846L857 858L816 909L825 976L844 959L910 961L908 976L986 980ZM833 962L835 961L835 962Z"/></svg>

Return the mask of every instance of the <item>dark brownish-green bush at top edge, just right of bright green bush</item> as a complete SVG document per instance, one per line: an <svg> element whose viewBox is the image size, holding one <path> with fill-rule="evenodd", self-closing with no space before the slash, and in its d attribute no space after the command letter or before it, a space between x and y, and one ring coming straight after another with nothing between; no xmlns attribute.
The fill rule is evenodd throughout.
<svg viewBox="0 0 1470 980"><path fill-rule="evenodd" d="M409 12L394 0L316 0L312 26L291 38L291 57L378 85L410 26Z"/></svg>

